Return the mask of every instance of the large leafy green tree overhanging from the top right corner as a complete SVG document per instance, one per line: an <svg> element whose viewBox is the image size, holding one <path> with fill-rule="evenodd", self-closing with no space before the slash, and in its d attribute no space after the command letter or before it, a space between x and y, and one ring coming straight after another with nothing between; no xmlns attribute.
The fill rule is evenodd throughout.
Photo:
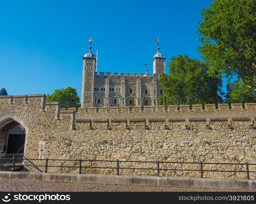
<svg viewBox="0 0 256 204"><path fill-rule="evenodd" d="M199 51L209 73L237 74L256 90L256 0L214 0L201 15Z"/></svg>

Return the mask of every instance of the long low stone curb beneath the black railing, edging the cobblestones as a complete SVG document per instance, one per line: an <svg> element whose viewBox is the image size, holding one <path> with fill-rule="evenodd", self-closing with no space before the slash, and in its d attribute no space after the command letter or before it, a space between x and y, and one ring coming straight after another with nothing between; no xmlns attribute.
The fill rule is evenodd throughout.
<svg viewBox="0 0 256 204"><path fill-rule="evenodd" d="M256 180L0 171L0 180L255 190Z"/></svg>

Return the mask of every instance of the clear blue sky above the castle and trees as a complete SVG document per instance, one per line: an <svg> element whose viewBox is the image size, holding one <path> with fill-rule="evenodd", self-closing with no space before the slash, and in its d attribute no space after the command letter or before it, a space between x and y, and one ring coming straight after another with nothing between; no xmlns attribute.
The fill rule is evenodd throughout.
<svg viewBox="0 0 256 204"><path fill-rule="evenodd" d="M98 72L153 73L160 52L200 59L200 12L212 0L0 1L0 88L9 95L53 93L72 86L81 95L82 56L98 55ZM166 68L168 71L168 67Z"/></svg>

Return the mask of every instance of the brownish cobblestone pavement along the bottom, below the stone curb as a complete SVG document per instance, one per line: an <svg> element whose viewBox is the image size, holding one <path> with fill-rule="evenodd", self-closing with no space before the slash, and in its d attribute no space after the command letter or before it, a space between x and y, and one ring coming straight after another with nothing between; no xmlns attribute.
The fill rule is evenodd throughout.
<svg viewBox="0 0 256 204"><path fill-rule="evenodd" d="M234 191L207 188L173 188L156 186L125 186L109 184L83 184L62 182L35 182L0 180L0 191Z"/></svg>

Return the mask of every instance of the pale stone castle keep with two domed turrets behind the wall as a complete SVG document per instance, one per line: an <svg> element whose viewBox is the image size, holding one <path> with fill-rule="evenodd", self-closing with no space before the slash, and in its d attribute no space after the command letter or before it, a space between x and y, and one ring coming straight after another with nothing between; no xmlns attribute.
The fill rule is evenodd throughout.
<svg viewBox="0 0 256 204"><path fill-rule="evenodd" d="M165 73L165 59L159 52L153 57L153 76L150 73L97 72L97 58L90 45L83 56L81 107L90 106L155 106L162 95L159 75Z"/></svg>

